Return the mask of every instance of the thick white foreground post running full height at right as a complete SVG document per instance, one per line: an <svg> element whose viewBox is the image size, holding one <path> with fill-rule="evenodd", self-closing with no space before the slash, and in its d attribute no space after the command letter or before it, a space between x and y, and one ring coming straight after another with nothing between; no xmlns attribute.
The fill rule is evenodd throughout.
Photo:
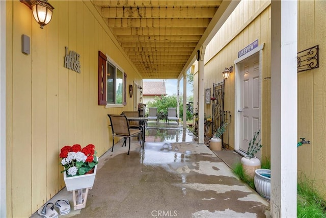
<svg viewBox="0 0 326 218"><path fill-rule="evenodd" d="M272 217L296 217L297 2L271 1Z"/></svg>

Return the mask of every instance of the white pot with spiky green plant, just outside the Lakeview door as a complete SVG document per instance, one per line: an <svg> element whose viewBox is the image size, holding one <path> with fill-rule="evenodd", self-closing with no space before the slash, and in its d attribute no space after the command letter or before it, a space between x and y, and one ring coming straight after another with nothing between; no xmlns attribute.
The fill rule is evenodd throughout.
<svg viewBox="0 0 326 218"><path fill-rule="evenodd" d="M260 130L257 133L254 133L254 137L249 141L249 147L246 156L241 158L241 164L244 172L252 179L255 176L255 170L261 168L260 160L255 156L261 147L263 147L260 144L261 139L256 142L259 133Z"/></svg>

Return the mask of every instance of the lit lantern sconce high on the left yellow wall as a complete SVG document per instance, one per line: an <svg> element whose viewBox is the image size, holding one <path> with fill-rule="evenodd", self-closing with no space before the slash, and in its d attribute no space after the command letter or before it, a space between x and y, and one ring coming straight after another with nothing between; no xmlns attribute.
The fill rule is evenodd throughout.
<svg viewBox="0 0 326 218"><path fill-rule="evenodd" d="M52 19L53 8L47 0L36 1L20 1L32 9L33 17L39 23L40 28L43 29Z"/></svg>

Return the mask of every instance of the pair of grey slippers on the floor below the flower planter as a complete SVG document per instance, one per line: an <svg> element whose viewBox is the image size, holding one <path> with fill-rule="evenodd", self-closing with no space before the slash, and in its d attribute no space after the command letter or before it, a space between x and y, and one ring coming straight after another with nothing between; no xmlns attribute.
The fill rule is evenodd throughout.
<svg viewBox="0 0 326 218"><path fill-rule="evenodd" d="M59 208L60 215L66 215L70 212L70 204L66 199L60 199L56 201L55 205L53 203L47 203L41 207L37 213L44 218L57 218L58 212L55 210L55 206Z"/></svg>

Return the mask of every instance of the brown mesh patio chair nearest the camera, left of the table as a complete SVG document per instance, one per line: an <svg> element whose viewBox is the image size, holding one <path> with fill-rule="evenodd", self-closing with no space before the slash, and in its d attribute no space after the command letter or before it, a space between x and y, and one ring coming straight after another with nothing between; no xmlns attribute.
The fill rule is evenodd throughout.
<svg viewBox="0 0 326 218"><path fill-rule="evenodd" d="M111 128L112 128L112 152L113 152L113 147L114 147L114 137L123 137L123 145L126 146L126 141L127 138L129 138L129 149L128 149L128 155L130 152L130 140L132 136L139 136L139 143L141 144L142 147L142 142L141 142L141 130L140 129L131 129L129 128L128 124L128 119L126 115L124 114L107 114L107 116L110 118L111 122ZM144 148L144 144L143 144Z"/></svg>

